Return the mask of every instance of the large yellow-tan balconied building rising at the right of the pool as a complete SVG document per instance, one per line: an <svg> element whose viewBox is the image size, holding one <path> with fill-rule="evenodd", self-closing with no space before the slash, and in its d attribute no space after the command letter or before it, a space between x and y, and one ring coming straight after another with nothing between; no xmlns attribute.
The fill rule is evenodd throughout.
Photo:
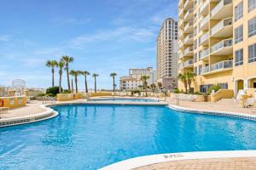
<svg viewBox="0 0 256 170"><path fill-rule="evenodd" d="M178 11L178 72L195 73L195 92L256 88L256 0L180 0Z"/></svg>

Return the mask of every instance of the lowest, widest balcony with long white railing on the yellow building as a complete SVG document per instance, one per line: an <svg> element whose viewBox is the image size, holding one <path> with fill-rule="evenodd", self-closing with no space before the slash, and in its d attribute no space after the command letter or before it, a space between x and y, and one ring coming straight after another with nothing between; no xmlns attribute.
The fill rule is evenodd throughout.
<svg viewBox="0 0 256 170"><path fill-rule="evenodd" d="M220 61L207 67L203 68L202 75L214 74L221 71L230 71L233 69L233 60Z"/></svg>

